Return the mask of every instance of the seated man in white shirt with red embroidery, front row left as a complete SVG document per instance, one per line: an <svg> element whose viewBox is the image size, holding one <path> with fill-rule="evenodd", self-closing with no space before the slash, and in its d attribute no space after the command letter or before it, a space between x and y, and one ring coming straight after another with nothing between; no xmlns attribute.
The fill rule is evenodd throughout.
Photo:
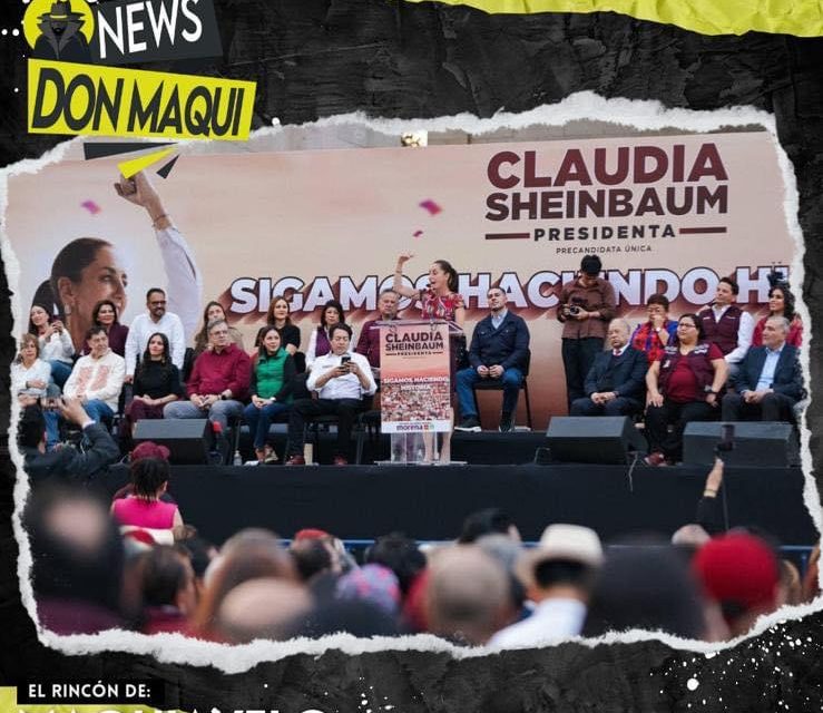
<svg viewBox="0 0 823 713"><path fill-rule="evenodd" d="M86 342L89 354L77 360L62 392L70 399L79 399L89 418L99 423L117 411L126 364L123 356L109 349L105 328L90 328Z"/></svg>

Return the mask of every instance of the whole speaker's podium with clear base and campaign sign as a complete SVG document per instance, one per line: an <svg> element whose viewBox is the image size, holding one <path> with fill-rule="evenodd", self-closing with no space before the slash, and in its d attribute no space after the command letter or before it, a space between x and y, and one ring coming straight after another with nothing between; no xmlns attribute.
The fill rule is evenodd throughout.
<svg viewBox="0 0 823 713"><path fill-rule="evenodd" d="M391 436L391 460L380 465L451 463L452 344L463 331L444 320L390 320L372 329L380 330L381 432Z"/></svg>

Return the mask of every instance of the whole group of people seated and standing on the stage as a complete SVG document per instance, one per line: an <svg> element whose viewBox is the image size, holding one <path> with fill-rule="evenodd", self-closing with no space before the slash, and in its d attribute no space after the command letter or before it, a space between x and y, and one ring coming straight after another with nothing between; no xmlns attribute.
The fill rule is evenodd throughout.
<svg viewBox="0 0 823 713"><path fill-rule="evenodd" d="M379 321L396 319L400 299L410 297L419 300L422 318L461 328L466 306L457 292L457 271L435 261L428 286L409 287L403 267L411 258L410 254L398 258L394 284L379 296ZM615 290L600 276L601 270L599 257L586 255L577 276L560 291L557 318L564 324L561 354L570 414L645 416L650 466L680 459L683 432L690 421L794 419L805 393L798 359L802 324L780 274L770 277L770 312L756 323L736 304L735 281L722 277L711 304L678 320L669 316L665 295L650 295L648 319L633 331L617 315ZM507 307L506 292L493 286L487 297L490 313L476 325L468 349L460 338L453 338L451 349L450 392L455 393L461 417L457 429L463 431L480 430L474 397L480 382L499 384L503 397L498 428L513 428L531 358L529 328ZM23 406L38 408L61 389L66 397L79 399L97 422L110 426L121 412L126 448L141 419L208 418L222 432L245 422L258 463L280 460L268 429L273 420L281 420L288 423L287 465L305 462L306 421L331 414L339 420L333 462L349 462L356 414L372 407L379 387L379 330L373 329L378 320L363 325L355 343L343 306L330 300L303 354L290 302L277 295L247 352L242 333L213 301L204 309L187 355L182 321L167 310L166 293L159 287L148 291L146 312L128 326L119 322L111 299L96 303L91 314L94 323L86 330L80 354L75 354L59 314L46 304L32 305L30 331L12 369L13 388ZM131 385L127 401L124 384ZM419 406L411 409L412 416L429 418L431 409ZM396 409L390 410L396 414ZM442 408L434 412L438 419L453 420ZM53 413L46 419L50 448L59 441L59 423ZM444 434L441 459L448 460L449 437Z"/></svg>

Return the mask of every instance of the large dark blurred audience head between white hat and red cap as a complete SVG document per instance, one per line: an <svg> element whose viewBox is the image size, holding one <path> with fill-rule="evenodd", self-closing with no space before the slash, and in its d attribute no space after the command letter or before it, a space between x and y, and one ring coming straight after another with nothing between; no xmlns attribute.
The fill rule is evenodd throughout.
<svg viewBox="0 0 823 713"><path fill-rule="evenodd" d="M595 580L584 636L635 628L704 636L703 600L688 565L672 547L650 544L609 549Z"/></svg>

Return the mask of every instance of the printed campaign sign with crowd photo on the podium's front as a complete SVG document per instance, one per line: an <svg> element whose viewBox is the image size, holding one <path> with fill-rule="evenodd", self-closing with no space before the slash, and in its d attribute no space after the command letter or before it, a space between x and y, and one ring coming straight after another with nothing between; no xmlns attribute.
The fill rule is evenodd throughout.
<svg viewBox="0 0 823 713"><path fill-rule="evenodd" d="M380 329L383 433L451 430L449 325L399 323Z"/></svg>

